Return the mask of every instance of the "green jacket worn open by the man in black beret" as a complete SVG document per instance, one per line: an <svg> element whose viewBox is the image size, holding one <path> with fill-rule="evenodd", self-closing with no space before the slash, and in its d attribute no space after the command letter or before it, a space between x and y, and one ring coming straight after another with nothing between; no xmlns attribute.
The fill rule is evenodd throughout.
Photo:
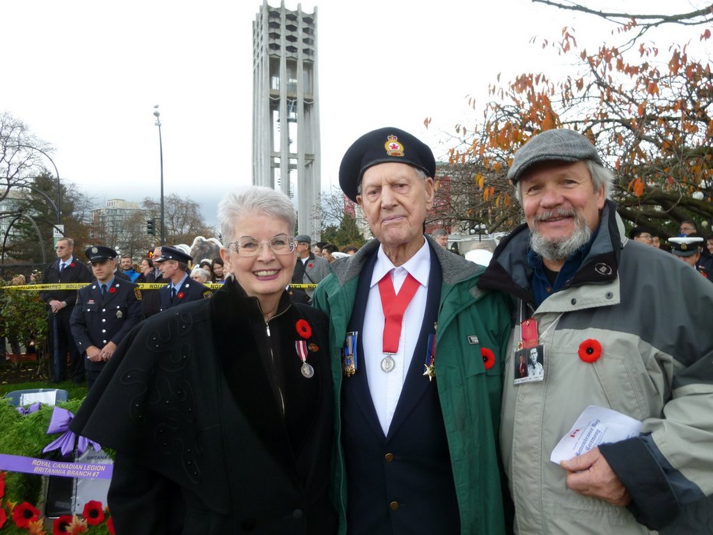
<svg viewBox="0 0 713 535"><path fill-rule="evenodd" d="M502 486L496 437L500 426L501 375L511 328L508 301L499 293L483 292L476 287L483 267L441 248L431 238L426 239L443 270L434 364L453 464L461 533L503 534L506 532L503 495L507 496L507 489ZM371 240L351 258L332 263L332 274L319 284L314 294L314 305L330 319L329 350L337 407L333 484L340 516L339 533L347 530L347 485L339 442L342 347L359 272L378 248L379 242ZM489 370L481 349L491 350L495 355L495 363Z"/></svg>

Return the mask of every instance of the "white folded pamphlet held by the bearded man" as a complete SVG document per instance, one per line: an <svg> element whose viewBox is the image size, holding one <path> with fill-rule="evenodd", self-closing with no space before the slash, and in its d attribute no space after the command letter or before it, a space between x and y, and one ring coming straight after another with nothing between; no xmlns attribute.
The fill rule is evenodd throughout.
<svg viewBox="0 0 713 535"><path fill-rule="evenodd" d="M599 444L611 444L637 437L642 422L605 407L590 405L552 450L550 461L560 464L594 449Z"/></svg>

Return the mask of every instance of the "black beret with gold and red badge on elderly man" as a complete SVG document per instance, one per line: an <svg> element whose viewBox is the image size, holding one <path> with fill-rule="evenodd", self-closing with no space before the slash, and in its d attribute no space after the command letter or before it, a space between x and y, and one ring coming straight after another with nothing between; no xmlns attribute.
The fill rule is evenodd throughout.
<svg viewBox="0 0 713 535"><path fill-rule="evenodd" d="M399 128L379 128L357 139L347 149L339 165L339 186L356 203L364 171L377 163L396 162L413 165L433 178L436 160L426 143Z"/></svg>

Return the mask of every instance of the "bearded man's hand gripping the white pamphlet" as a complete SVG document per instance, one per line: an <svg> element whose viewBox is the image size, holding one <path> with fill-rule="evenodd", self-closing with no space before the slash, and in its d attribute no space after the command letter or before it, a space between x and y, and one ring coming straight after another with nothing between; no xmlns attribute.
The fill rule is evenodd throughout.
<svg viewBox="0 0 713 535"><path fill-rule="evenodd" d="M567 486L583 496L602 499L612 505L627 506L631 496L599 452L593 449L579 457L563 461L560 466L567 470Z"/></svg>

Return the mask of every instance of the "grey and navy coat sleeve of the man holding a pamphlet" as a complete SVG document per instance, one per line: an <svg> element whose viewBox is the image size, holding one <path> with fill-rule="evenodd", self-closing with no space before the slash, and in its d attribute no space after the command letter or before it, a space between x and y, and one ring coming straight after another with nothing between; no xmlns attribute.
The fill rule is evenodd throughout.
<svg viewBox="0 0 713 535"><path fill-rule="evenodd" d="M689 504L713 494L713 285L691 270L679 279L670 397L662 414L643 422L643 433L600 452L632 496L640 524L661 529ZM663 313L663 312L662 312ZM684 316L684 317L679 317Z"/></svg>

